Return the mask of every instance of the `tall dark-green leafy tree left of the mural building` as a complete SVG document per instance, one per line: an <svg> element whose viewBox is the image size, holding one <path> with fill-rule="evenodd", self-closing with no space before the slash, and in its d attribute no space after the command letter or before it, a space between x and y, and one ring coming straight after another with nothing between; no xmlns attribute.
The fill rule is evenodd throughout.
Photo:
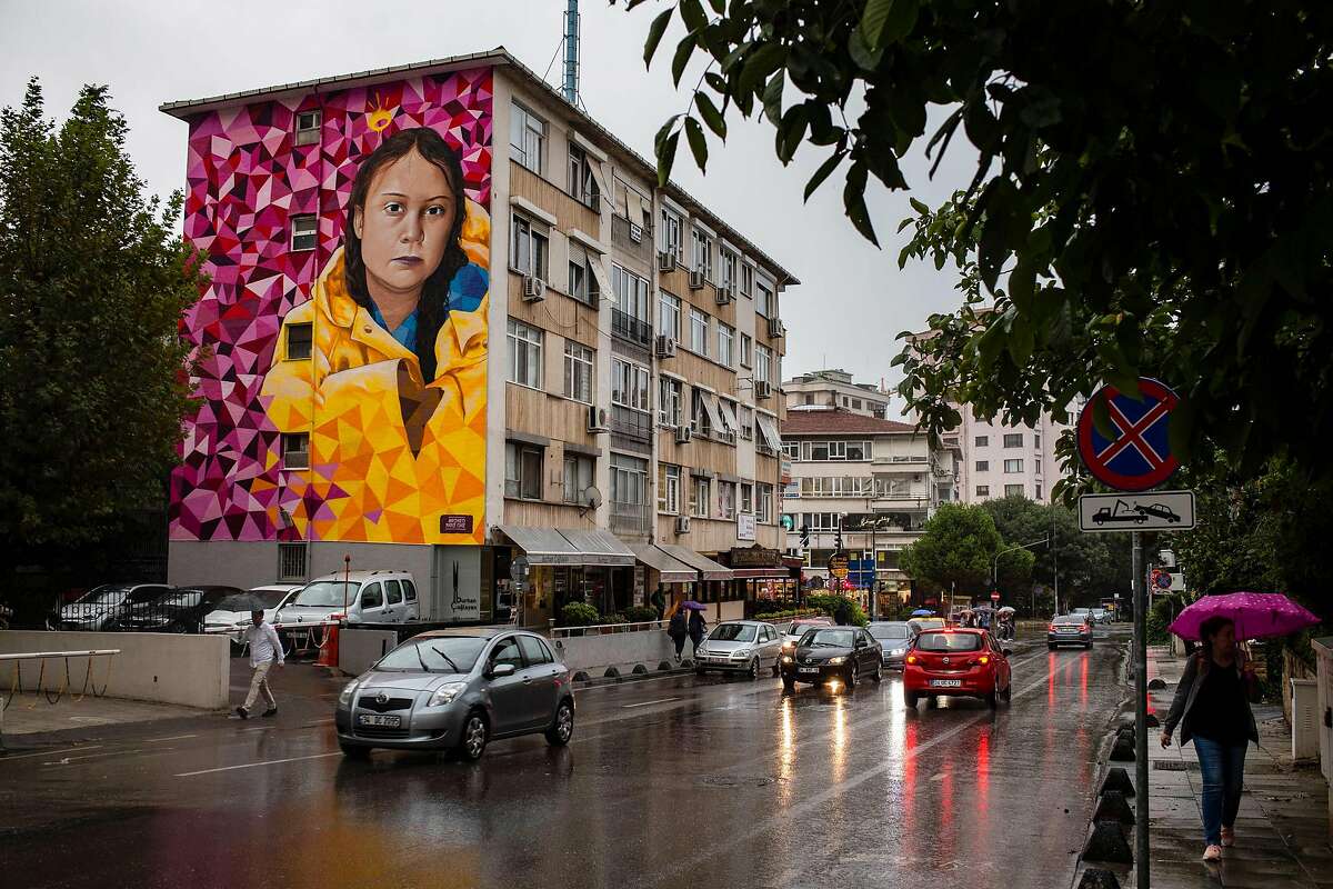
<svg viewBox="0 0 1333 889"><path fill-rule="evenodd" d="M191 407L181 313L203 280L145 197L105 87L60 125L0 112L0 541L75 548L160 508Z"/></svg>

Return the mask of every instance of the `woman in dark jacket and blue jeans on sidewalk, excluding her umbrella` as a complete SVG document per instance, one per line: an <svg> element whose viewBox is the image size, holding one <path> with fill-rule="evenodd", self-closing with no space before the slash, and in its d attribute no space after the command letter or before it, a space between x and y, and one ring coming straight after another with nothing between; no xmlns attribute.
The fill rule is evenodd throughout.
<svg viewBox="0 0 1333 889"><path fill-rule="evenodd" d="M1194 741L1204 784L1204 861L1217 861L1222 846L1236 844L1245 749L1250 741L1258 744L1248 688L1254 673L1236 646L1236 624L1230 618L1209 617L1198 634L1198 650L1185 662L1162 724L1161 744L1170 746L1170 736L1181 724L1180 742Z"/></svg>

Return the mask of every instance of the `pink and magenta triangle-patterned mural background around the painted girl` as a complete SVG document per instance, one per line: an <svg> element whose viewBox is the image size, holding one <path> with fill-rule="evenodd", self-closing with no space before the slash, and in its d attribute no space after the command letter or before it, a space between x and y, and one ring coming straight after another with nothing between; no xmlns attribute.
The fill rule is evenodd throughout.
<svg viewBox="0 0 1333 889"><path fill-rule="evenodd" d="M297 112L323 109L320 143L296 145ZM171 480L172 540L297 537L280 508L321 505L284 472L279 433L260 397L283 316L311 297L343 243L357 165L399 129L431 127L463 157L468 197L489 208L492 72L428 75L300 99L264 101L189 121L185 237L208 252L212 284L181 336L199 359L203 399L187 421ZM319 213L319 247L293 253L288 219Z"/></svg>

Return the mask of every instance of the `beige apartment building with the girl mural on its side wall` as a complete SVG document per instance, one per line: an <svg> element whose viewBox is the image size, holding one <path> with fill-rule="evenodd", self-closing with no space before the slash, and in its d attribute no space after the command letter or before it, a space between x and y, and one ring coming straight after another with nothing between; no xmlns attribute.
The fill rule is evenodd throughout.
<svg viewBox="0 0 1333 889"><path fill-rule="evenodd" d="M171 578L405 568L435 620L543 626L659 586L740 616L790 582L796 279L532 71L497 49L163 109L212 275ZM429 163L396 165L403 140ZM433 231L457 240L391 327L383 239L429 255Z"/></svg>

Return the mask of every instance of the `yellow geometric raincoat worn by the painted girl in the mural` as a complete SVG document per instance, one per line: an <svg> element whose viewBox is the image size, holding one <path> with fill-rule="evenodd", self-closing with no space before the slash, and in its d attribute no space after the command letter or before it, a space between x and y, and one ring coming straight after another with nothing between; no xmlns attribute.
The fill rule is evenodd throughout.
<svg viewBox="0 0 1333 889"><path fill-rule="evenodd" d="M467 207L460 243L487 269L491 221L471 200ZM416 355L347 292L341 248L329 259L311 300L283 319L263 388L273 425L311 436L311 469L299 474L313 498L292 510L303 538L481 542L489 301L449 312L435 344L437 375L427 383ZM311 359L287 356L297 324L312 325ZM289 480L293 490L299 484ZM313 514L309 502L320 504ZM469 516L472 532L441 533L443 516Z"/></svg>

